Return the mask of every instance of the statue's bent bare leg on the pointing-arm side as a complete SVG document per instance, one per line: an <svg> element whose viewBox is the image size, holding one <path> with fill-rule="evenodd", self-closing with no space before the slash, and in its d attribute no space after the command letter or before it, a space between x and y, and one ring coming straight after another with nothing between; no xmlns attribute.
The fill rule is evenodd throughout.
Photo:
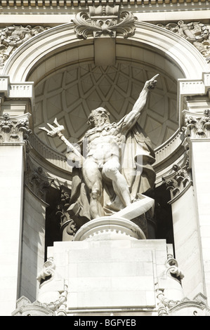
<svg viewBox="0 0 210 330"><path fill-rule="evenodd" d="M114 192L117 194L122 204L124 206L129 206L131 204L129 187L126 179L122 173L120 173L119 168L119 161L112 157L112 159L104 164L102 174L112 180Z"/></svg>

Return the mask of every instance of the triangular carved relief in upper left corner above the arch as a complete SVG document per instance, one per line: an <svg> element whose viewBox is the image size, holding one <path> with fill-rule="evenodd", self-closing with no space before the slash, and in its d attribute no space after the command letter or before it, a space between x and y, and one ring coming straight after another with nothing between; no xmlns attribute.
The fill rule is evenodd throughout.
<svg viewBox="0 0 210 330"><path fill-rule="evenodd" d="M5 27L0 31L0 68L4 67L4 62L8 57L22 45L25 41L31 39L37 34L46 31L50 27L31 27L27 25L26 27L20 26L11 26Z"/></svg>

